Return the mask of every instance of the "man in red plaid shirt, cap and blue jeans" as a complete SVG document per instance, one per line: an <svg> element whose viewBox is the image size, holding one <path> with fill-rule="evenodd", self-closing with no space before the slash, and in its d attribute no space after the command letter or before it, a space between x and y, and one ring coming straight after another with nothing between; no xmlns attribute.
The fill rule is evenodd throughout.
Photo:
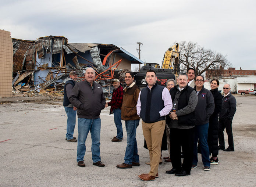
<svg viewBox="0 0 256 187"><path fill-rule="evenodd" d="M122 107L122 99L123 99L123 88L120 85L120 81L118 79L113 80L114 91L112 94L111 101L106 103L105 107L110 106L110 114L114 113L114 122L117 127L117 136L114 136L111 141L117 142L122 141L123 132L122 132L122 122L121 122L121 107Z"/></svg>

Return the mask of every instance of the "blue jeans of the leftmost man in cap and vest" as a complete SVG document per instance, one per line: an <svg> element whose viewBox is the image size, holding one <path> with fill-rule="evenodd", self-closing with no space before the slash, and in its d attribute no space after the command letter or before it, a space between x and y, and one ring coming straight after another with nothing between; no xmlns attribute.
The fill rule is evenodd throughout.
<svg viewBox="0 0 256 187"><path fill-rule="evenodd" d="M72 108L64 107L64 108L68 116L66 139L70 140L70 139L73 139L73 134L75 129L75 117L77 115L77 111L74 111L73 107Z"/></svg>

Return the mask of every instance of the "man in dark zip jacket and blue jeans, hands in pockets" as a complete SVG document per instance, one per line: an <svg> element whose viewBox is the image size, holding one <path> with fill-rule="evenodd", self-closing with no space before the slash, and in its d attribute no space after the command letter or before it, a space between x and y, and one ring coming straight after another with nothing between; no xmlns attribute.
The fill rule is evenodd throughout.
<svg viewBox="0 0 256 187"><path fill-rule="evenodd" d="M85 167L83 157L86 151L85 141L89 131L92 137L93 165L105 166L100 159L100 112L105 108L106 99L102 87L94 79L94 69L87 68L85 81L78 82L69 97L70 102L78 109L77 162L80 167Z"/></svg>

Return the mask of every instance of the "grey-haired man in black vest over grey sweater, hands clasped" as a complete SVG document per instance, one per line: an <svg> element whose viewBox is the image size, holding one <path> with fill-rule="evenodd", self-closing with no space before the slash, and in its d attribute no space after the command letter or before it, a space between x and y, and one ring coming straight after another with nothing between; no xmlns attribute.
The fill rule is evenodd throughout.
<svg viewBox="0 0 256 187"><path fill-rule="evenodd" d="M175 176L190 175L193 159L195 108L198 102L196 91L188 86L188 75L179 73L178 85L170 90L173 109L167 115L170 126L170 156L173 168L166 171ZM184 153L181 163L181 147Z"/></svg>

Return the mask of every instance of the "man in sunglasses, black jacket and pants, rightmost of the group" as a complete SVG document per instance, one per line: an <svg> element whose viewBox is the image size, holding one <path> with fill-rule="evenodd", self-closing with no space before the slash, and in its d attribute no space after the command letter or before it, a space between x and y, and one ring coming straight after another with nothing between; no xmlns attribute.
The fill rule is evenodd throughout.
<svg viewBox="0 0 256 187"><path fill-rule="evenodd" d="M234 96L230 93L230 84L225 84L223 87L223 102L222 109L219 113L219 127L218 127L218 140L219 140L219 150L223 151L235 151L234 150L234 140L232 133L232 120L237 110L237 101ZM225 149L224 141L224 129L228 134L228 148Z"/></svg>

